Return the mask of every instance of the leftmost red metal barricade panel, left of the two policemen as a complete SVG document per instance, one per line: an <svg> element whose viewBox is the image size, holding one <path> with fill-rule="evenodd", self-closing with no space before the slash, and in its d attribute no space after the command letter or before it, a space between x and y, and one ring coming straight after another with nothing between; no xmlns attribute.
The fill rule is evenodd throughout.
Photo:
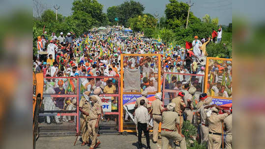
<svg viewBox="0 0 265 149"><path fill-rule="evenodd" d="M39 135L68 136L79 131L78 77L44 77Z"/></svg>

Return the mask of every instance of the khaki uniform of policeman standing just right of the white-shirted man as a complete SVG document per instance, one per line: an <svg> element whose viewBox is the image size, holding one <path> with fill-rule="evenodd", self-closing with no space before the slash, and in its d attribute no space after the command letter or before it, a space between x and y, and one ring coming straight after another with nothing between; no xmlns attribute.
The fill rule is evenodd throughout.
<svg viewBox="0 0 265 149"><path fill-rule="evenodd" d="M153 116L153 141L157 142L158 139L158 127L159 123L162 122L161 111L164 108L162 107L163 102L160 99L156 99L152 102L152 116Z"/></svg>

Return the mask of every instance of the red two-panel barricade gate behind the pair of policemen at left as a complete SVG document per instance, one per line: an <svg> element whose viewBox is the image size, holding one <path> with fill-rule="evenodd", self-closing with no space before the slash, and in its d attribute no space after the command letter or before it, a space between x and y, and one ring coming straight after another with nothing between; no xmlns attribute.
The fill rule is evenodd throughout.
<svg viewBox="0 0 265 149"><path fill-rule="evenodd" d="M113 84L116 87L115 93L100 94L104 120L100 122L99 133L120 132L120 79L118 76L44 77L43 100L39 111L39 137L71 136L79 132L81 126L79 102L83 97L83 92L88 90L84 90L84 85L87 84L84 84L84 80L89 82L88 80L92 79L95 80L95 86L102 82L103 85L97 86L101 87L102 91L109 79L115 82ZM93 95L93 92L90 95ZM114 119L112 119L113 116Z"/></svg>

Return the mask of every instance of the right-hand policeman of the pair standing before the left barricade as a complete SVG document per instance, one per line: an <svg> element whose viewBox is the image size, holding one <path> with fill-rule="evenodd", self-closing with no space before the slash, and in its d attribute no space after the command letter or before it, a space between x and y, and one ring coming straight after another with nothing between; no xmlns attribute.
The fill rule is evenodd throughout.
<svg viewBox="0 0 265 149"><path fill-rule="evenodd" d="M97 103L96 96L90 96L91 109L90 109L90 121L88 122L89 137L92 140L90 149L95 149L99 146L100 141L97 139L97 132L99 126L99 120L101 116L101 107Z"/></svg>

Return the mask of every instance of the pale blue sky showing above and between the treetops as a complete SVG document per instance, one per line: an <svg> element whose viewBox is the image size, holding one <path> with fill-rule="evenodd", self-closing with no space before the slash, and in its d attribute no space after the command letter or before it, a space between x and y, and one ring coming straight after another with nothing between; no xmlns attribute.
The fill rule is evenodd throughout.
<svg viewBox="0 0 265 149"><path fill-rule="evenodd" d="M74 0L42 0L42 3L47 5L47 8L52 10L54 5L60 6L59 13L63 16L71 15L72 2ZM119 5L125 0L98 0L99 3L103 4L103 12L107 12L107 8ZM169 0L135 0L141 2L145 6L144 13L150 13L154 15L156 12L159 15L158 18L165 16L166 4ZM178 0L187 2L188 0ZM206 14L211 18L218 18L220 25L228 25L232 23L232 0L191 0L194 4L191 7L193 14L202 19ZM33 10L33 15L35 12Z"/></svg>

